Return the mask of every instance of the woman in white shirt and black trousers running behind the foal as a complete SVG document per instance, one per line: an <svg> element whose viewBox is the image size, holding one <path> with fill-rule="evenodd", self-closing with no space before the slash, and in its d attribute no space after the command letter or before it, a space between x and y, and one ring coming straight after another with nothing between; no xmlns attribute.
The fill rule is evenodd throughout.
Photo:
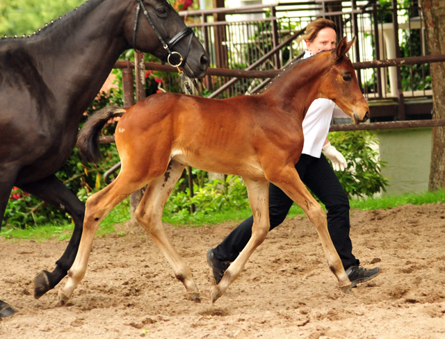
<svg viewBox="0 0 445 339"><path fill-rule="evenodd" d="M316 19L309 24L306 34L302 37L307 46L304 58L333 49L337 42L335 29L334 22L328 19ZM380 273L380 268L366 270L359 266L359 260L352 253L353 245L349 238L349 200L326 159L327 157L331 160L332 166L337 171L340 169L343 171L346 167L345 158L326 138L334 106L334 102L329 99L316 99L307 110L302 122L305 143L296 169L302 182L314 192L327 209L327 229L354 287L357 283L373 279ZM293 201L280 188L270 183L270 230L284 221L292 204ZM207 263L213 271L217 284L223 278L230 262L236 259L248 243L252 235L252 224L253 217L250 217L227 235L218 247L207 252Z"/></svg>

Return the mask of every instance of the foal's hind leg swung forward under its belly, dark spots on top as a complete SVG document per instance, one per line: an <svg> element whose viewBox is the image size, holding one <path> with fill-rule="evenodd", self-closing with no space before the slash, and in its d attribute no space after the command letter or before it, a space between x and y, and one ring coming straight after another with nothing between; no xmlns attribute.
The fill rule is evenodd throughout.
<svg viewBox="0 0 445 339"><path fill-rule="evenodd" d="M173 268L176 278L184 283L188 298L200 302L200 291L186 262L179 256L177 250L165 233L162 226L162 211L175 183L184 171L184 165L171 160L163 176L154 179L145 190L134 216L145 231L151 235L156 245L161 249L168 263Z"/></svg>

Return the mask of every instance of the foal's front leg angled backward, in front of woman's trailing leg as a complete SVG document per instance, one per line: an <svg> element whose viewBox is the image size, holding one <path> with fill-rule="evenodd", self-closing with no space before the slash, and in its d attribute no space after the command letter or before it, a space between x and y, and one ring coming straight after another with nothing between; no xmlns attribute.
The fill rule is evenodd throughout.
<svg viewBox="0 0 445 339"><path fill-rule="evenodd" d="M264 242L270 229L269 221L269 183L243 178L248 188L250 208L253 213L252 236L243 251L224 272L220 283L211 291L212 303L218 300L243 271L253 251Z"/></svg>

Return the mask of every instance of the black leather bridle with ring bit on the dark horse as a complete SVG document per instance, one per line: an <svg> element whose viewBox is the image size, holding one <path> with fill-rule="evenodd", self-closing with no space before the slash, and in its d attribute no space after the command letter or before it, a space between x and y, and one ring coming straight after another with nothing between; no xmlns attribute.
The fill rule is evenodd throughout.
<svg viewBox="0 0 445 339"><path fill-rule="evenodd" d="M168 57L167 57L167 62L173 66L173 67L179 67L181 66L182 63L186 63L187 60L187 56L188 56L188 52L190 51L190 47L191 47L191 43L192 43L192 38L195 35L195 33L193 32L193 29L190 27L186 27L184 28L182 31L180 31L179 33L177 33L177 35L175 35L170 42L165 43L165 41L163 40L161 33L159 33L159 30L156 28L156 25L154 24L154 21L152 19L152 17L150 16L150 14L148 13L147 9L144 6L143 0L136 0L136 2L138 3L138 6L136 6L136 15L134 17L134 26L133 26L133 49L136 49L136 31L137 31L137 27L138 27L138 17L139 17L139 11L140 8L142 7L143 9L143 13L145 15L145 17L147 18L147 21L149 22L150 26L152 26L154 33L156 33L159 41L161 41L162 46L164 47L164 49L166 51L168 51ZM177 44L177 42L179 42L182 38L185 38L187 35L190 35L190 39L188 40L188 44L187 44L187 51L186 51L186 56L185 58L183 58L183 56L181 56L181 53L177 52L177 51L171 51L172 47ZM178 64L172 64L170 62L170 57L174 54L177 54L179 56L179 63ZM165 63L165 60L163 60L163 62Z"/></svg>

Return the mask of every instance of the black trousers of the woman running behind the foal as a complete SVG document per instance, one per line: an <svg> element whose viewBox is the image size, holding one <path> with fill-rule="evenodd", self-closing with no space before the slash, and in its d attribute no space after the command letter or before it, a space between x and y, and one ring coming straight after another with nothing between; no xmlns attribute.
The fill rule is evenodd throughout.
<svg viewBox="0 0 445 339"><path fill-rule="evenodd" d="M327 229L343 267L359 265L353 255L353 244L349 238L349 200L341 187L334 170L325 156L314 158L302 154L296 165L300 178L327 209ZM270 230L275 229L286 218L293 201L277 186L269 185ZM253 216L239 224L223 242L213 250L220 261L234 261L252 235Z"/></svg>

